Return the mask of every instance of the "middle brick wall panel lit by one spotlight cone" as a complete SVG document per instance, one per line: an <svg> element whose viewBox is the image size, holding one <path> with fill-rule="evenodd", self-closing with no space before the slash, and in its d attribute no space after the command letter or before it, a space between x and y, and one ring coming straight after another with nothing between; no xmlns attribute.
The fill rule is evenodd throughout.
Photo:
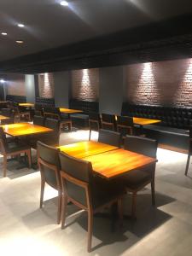
<svg viewBox="0 0 192 256"><path fill-rule="evenodd" d="M99 95L99 69L72 71L72 97L80 101L96 102Z"/></svg>

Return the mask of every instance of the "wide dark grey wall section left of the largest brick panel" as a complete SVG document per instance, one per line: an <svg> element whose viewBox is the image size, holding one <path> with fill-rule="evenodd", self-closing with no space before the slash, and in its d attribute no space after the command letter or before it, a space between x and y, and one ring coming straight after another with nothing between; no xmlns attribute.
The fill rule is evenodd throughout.
<svg viewBox="0 0 192 256"><path fill-rule="evenodd" d="M121 113L125 97L125 67L100 68L100 113Z"/></svg>

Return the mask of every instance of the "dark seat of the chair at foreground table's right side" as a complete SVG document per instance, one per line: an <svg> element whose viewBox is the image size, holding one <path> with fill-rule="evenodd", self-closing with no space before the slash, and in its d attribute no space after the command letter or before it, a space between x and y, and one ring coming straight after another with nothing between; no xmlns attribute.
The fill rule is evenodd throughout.
<svg viewBox="0 0 192 256"><path fill-rule="evenodd" d="M143 170L135 170L127 173L122 178L122 183L130 189L139 189L143 184L151 179L151 174Z"/></svg>

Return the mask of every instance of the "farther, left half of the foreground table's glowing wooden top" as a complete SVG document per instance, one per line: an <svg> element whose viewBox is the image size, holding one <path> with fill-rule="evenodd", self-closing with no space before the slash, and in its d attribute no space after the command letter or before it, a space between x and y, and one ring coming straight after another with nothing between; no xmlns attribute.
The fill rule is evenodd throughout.
<svg viewBox="0 0 192 256"><path fill-rule="evenodd" d="M103 152L117 149L117 147L104 144L104 143L96 143L93 141L73 143L73 144L60 146L58 148L60 148L61 152L65 152L79 159L82 159L86 156L90 156L93 154L100 154Z"/></svg>

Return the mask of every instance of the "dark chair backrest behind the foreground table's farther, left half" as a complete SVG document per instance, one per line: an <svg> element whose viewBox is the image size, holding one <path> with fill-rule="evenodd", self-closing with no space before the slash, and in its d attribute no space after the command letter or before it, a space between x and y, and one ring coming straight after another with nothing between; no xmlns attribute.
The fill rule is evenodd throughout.
<svg viewBox="0 0 192 256"><path fill-rule="evenodd" d="M99 143L106 143L115 147L120 146L120 133L101 129L98 137Z"/></svg>

